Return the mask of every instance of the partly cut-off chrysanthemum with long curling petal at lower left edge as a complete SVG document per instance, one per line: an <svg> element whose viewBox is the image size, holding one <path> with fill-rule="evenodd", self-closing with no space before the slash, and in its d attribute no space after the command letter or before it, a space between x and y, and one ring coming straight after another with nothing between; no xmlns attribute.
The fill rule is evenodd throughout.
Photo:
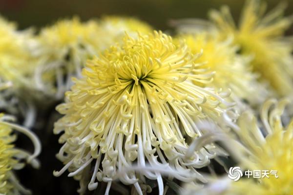
<svg viewBox="0 0 293 195"><path fill-rule="evenodd" d="M0 194L30 194L29 190L21 186L13 170L19 170L24 166L24 163L21 162L23 159L26 159L27 163L30 163L34 168L38 168L40 165L35 157L41 152L41 143L34 133L19 125L6 122L6 120L14 120L14 117L0 114ZM16 139L16 136L12 135L13 129L24 133L33 141L35 146L33 155L15 148L12 144Z"/></svg>

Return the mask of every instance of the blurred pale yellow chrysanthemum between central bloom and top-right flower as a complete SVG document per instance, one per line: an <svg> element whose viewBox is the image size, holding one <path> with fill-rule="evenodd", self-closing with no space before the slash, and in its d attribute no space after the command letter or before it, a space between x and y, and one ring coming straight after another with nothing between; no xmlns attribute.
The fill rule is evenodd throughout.
<svg viewBox="0 0 293 195"><path fill-rule="evenodd" d="M266 98L268 93L251 73L249 59L236 54L237 47L232 44L232 39L223 41L216 31L183 34L179 38L186 41L192 53L203 50L198 63L215 72L213 82L205 86L231 89L231 98L239 103L245 99L255 105Z"/></svg>

